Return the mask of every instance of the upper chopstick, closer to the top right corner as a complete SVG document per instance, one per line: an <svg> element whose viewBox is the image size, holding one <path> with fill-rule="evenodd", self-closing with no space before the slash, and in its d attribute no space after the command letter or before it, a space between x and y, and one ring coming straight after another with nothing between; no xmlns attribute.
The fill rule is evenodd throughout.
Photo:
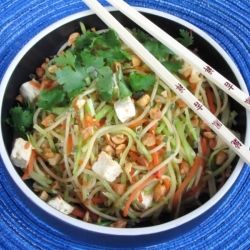
<svg viewBox="0 0 250 250"><path fill-rule="evenodd" d="M124 15L138 24L141 28L155 37L162 44L171 49L176 55L184 59L190 65L195 67L208 80L216 84L220 89L230 95L235 101L240 103L247 110L250 110L250 97L241 89L227 80L219 72L213 69L210 65L176 41L173 37L166 33L163 29L155 25L148 18L143 16L135 8L125 3L123 0L107 0L110 4L120 10Z"/></svg>

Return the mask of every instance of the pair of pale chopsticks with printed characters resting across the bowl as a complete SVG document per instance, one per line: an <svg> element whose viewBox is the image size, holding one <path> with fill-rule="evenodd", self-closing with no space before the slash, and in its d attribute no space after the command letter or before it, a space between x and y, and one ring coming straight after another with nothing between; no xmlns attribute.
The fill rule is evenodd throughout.
<svg viewBox="0 0 250 250"><path fill-rule="evenodd" d="M188 106L191 108L220 138L232 148L246 163L250 164L249 149L218 119L215 117L172 73L170 73L122 24L120 24L97 0L83 0L84 3L96 13L97 16L111 29L120 39L130 47L144 63L155 72L160 79L168 85ZM194 65L207 79L216 83L227 94L250 110L250 98L233 83L216 72L192 52L179 44L165 31L153 24L150 20L125 3L123 0L107 0L118 10L132 19L140 27L166 45L169 49Z"/></svg>

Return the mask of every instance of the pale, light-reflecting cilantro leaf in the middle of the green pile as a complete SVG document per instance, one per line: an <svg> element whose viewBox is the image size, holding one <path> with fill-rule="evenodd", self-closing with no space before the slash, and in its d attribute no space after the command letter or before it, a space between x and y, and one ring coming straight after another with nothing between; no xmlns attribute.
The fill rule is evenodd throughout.
<svg viewBox="0 0 250 250"><path fill-rule="evenodd" d="M56 78L59 84L63 85L63 89L68 93L69 97L73 97L76 93L83 90L86 85L85 78L87 72L84 68L64 67L56 72Z"/></svg>

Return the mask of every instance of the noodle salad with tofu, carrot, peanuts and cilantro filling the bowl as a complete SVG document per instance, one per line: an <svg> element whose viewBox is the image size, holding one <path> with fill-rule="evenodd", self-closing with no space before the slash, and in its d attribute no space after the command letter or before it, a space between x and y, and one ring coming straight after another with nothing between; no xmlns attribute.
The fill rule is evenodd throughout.
<svg viewBox="0 0 250 250"><path fill-rule="evenodd" d="M181 216L213 196L235 154L112 30L81 24L20 87L11 159L50 206L98 225ZM131 32L229 128L228 97L140 30ZM192 34L181 30L189 46Z"/></svg>

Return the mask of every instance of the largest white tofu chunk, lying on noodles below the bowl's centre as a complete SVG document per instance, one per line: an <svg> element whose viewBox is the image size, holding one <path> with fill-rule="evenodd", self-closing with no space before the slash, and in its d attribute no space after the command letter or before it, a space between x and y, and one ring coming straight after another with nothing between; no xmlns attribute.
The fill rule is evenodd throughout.
<svg viewBox="0 0 250 250"><path fill-rule="evenodd" d="M101 152L98 160L93 164L93 171L108 182L113 182L121 173L122 168L110 155Z"/></svg>

